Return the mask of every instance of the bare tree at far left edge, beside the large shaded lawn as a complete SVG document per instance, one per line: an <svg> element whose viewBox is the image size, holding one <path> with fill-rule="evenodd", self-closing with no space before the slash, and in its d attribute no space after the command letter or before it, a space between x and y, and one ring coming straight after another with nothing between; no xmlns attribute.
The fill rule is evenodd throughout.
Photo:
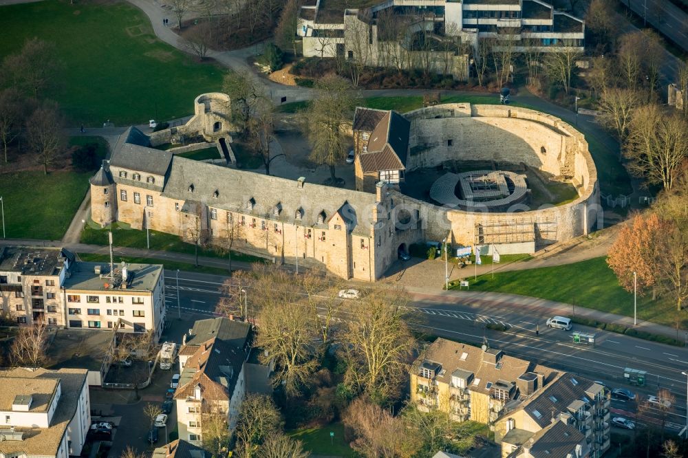
<svg viewBox="0 0 688 458"><path fill-rule="evenodd" d="M3 60L4 79L24 94L38 98L56 83L56 73L62 66L56 55L52 43L37 38L27 40L18 54Z"/></svg>

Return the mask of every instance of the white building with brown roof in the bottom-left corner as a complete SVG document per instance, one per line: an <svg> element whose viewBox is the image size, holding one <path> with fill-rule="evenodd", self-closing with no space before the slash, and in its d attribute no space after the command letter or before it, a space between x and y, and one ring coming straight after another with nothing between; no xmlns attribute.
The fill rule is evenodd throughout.
<svg viewBox="0 0 688 458"><path fill-rule="evenodd" d="M0 371L0 456L81 454L91 424L85 369Z"/></svg>

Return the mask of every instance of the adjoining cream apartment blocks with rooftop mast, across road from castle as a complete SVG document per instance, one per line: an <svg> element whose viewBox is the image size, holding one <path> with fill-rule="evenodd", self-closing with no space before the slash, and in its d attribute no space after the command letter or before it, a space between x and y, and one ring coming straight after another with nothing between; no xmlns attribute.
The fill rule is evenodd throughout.
<svg viewBox="0 0 688 458"><path fill-rule="evenodd" d="M20 325L152 330L165 316L162 265L76 261L60 248L0 248L0 311Z"/></svg>

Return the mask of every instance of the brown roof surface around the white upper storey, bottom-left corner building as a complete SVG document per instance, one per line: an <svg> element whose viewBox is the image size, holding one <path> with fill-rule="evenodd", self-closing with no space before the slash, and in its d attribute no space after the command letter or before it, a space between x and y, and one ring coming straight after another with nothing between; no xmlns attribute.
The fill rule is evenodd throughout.
<svg viewBox="0 0 688 458"><path fill-rule="evenodd" d="M72 421L78 407L81 389L86 383L86 369L60 369L50 371L47 369L18 368L11 371L0 371L0 386L14 378L25 380L32 378L38 380L61 381L61 395L57 408L52 416L50 428L19 427L15 430L23 433L21 441L0 441L0 455L43 455L54 457L60 443L65 437L67 426Z"/></svg>

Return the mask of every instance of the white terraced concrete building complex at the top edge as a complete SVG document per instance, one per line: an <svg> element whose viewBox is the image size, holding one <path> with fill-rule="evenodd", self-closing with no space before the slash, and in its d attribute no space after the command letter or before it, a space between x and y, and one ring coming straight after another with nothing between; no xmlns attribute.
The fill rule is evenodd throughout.
<svg viewBox="0 0 688 458"><path fill-rule="evenodd" d="M464 79L466 63L460 50L448 45L452 37L474 47L482 40L508 39L517 50L582 52L585 23L541 0L372 0L358 9L312 0L299 10L296 33L307 57L341 56L399 68L431 63L434 72Z"/></svg>

